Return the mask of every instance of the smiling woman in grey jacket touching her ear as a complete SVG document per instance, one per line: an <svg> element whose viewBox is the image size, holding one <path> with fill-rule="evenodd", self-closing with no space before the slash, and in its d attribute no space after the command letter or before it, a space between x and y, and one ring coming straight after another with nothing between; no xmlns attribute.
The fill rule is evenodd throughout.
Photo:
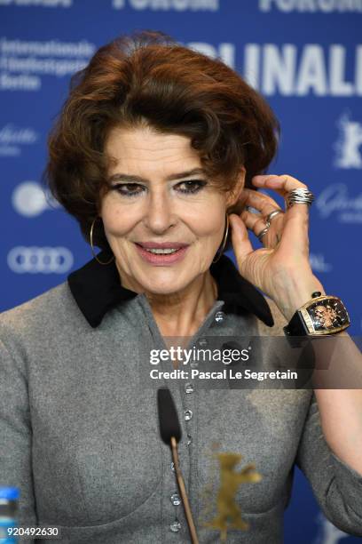
<svg viewBox="0 0 362 544"><path fill-rule="evenodd" d="M284 336L287 324L300 335L296 310L316 292L323 305L308 259L312 195L292 176L264 175L277 133L270 108L237 73L161 33L107 44L75 78L51 134L47 178L92 251L102 251L1 319L0 483L20 487L22 526L58 526L72 543L189 541L159 436L160 381L142 381L143 356L169 337L205 347L208 338ZM257 188L283 196L286 209ZM248 229L263 248L253 250ZM229 231L239 271L222 254ZM358 366L341 308L329 332L345 336ZM240 486L249 528L229 531L228 542L282 541L295 463L326 516L362 536L360 390L162 383L181 419L201 542L219 540L202 519L214 443L262 476Z"/></svg>

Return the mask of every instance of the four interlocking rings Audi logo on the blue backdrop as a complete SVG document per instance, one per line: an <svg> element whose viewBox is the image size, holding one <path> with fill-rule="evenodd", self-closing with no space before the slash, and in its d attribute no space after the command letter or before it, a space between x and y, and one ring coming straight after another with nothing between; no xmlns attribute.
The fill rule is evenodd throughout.
<svg viewBox="0 0 362 544"><path fill-rule="evenodd" d="M7 262L16 274L65 274L73 266L73 254L67 247L13 247Z"/></svg>

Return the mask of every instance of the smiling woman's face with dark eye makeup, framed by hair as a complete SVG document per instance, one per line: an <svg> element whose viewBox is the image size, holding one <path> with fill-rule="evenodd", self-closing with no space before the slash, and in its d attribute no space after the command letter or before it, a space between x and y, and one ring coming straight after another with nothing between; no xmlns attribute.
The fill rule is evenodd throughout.
<svg viewBox="0 0 362 544"><path fill-rule="evenodd" d="M136 292L182 291L209 269L229 197L201 171L184 136L114 128L105 151L113 159L112 188L100 215L122 284Z"/></svg>

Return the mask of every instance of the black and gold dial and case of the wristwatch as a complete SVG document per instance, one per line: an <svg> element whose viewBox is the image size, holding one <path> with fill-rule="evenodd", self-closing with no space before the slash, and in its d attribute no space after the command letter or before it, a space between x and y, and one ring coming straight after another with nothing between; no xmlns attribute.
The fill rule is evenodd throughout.
<svg viewBox="0 0 362 544"><path fill-rule="evenodd" d="M315 332L339 329L349 323L349 316L342 300L337 298L319 298L306 308Z"/></svg>

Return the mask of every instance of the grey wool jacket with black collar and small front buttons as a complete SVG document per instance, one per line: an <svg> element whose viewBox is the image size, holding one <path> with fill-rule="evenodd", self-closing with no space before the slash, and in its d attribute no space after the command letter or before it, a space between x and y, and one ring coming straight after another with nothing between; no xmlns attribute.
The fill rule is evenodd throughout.
<svg viewBox="0 0 362 544"><path fill-rule="evenodd" d="M190 345L208 336L282 335L275 304L226 259L211 269L218 300ZM112 267L92 260L0 316L0 485L20 487L21 526L57 526L62 543L188 542L183 508L171 500L169 447L159 436L160 383L140 372L142 354L165 344L146 296L124 289ZM264 349L263 363L268 357ZM327 518L362 536L362 476L328 447L311 390L195 384L186 394L184 384L164 384L180 417L180 462L201 543L220 541L201 523L205 486L214 490L211 502L216 496L213 443L240 452L240 466L254 462L263 476L240 485L236 502L250 526L228 532L229 544L283 541L295 464Z"/></svg>

